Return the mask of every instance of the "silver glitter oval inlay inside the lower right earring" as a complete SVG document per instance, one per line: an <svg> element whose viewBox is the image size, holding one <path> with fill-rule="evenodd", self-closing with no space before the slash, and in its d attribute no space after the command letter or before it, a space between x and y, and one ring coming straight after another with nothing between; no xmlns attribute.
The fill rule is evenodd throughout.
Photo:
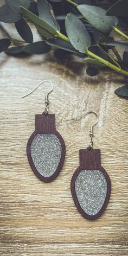
<svg viewBox="0 0 128 256"><path fill-rule="evenodd" d="M82 170L75 181L76 196L80 206L88 215L99 212L107 194L107 182L98 170Z"/></svg>

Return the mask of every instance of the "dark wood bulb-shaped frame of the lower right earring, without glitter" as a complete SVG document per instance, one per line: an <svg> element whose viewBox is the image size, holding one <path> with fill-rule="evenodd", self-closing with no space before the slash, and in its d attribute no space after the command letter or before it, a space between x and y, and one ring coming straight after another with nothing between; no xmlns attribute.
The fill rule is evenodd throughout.
<svg viewBox="0 0 128 256"><path fill-rule="evenodd" d="M111 180L107 172L105 171L105 169L101 167L101 157L100 157L99 149L95 149L95 150L93 150L92 148L81 149L79 151L79 155L80 155L80 166L74 172L71 180L72 196L73 196L75 206L79 210L79 213L81 213L81 215L84 216L87 220L95 220L95 219L98 219L98 217L100 217L100 215L104 213L107 207L107 204L111 195ZM78 174L81 170L92 170L92 171L100 170L103 173L104 177L106 178L107 193L106 193L105 201L103 206L99 210L99 212L95 215L88 215L87 213L85 213L82 207L80 206L80 203L76 196L75 181L76 181L76 177L78 177Z"/></svg>

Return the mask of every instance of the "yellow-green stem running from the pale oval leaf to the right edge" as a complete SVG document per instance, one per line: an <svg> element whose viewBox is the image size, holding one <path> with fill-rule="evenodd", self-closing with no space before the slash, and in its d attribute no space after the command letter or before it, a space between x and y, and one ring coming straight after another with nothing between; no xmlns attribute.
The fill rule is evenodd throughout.
<svg viewBox="0 0 128 256"><path fill-rule="evenodd" d="M119 68L119 67L117 67L117 66L114 66L111 62L102 59L102 58L99 57L98 55L96 55L96 54L90 52L88 49L87 49L86 54L87 54L88 56L93 57L93 59L96 59L96 60L100 61L101 63L103 63L103 64L106 65L107 67L113 69L114 71L117 71L117 72L119 72L119 73L121 73L121 74L124 74L124 75L127 75L127 76L128 76L128 72L127 72L127 71L125 71L124 69L121 69L121 68Z"/></svg>

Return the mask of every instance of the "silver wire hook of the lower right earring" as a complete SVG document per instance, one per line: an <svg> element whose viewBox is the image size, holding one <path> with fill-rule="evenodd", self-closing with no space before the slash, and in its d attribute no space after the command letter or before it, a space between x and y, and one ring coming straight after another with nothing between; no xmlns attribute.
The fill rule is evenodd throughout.
<svg viewBox="0 0 128 256"><path fill-rule="evenodd" d="M68 119L68 120L66 120L66 121L76 120L76 119L79 119L79 118L81 118L81 117L83 117L83 116L87 116L87 114L94 114L95 117L97 117L96 122L95 122L93 125L90 126L90 131L89 131L89 136L91 137L91 142L90 142L90 144L89 144L89 148L91 149L91 148L93 148L93 136L94 136L93 127L94 127L95 125L97 125L97 124L98 124L98 121L99 121L99 117L98 117L97 113L95 113L94 111L88 111L88 112L86 112L86 113L84 113L84 114L81 114L79 117L75 117L75 118L72 118L72 119Z"/></svg>

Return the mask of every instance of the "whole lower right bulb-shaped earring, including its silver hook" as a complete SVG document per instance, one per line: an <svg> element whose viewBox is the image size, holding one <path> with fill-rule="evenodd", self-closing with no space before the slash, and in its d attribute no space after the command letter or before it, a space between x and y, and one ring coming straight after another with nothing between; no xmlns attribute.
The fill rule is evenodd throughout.
<svg viewBox="0 0 128 256"><path fill-rule="evenodd" d="M80 165L73 174L71 191L76 208L88 220L95 220L104 213L111 194L111 180L101 167L100 150L93 149L93 127L98 123L98 116L90 111L81 114L79 119L87 114L95 114L97 121L91 126L89 136L91 142L87 149L80 149Z"/></svg>

